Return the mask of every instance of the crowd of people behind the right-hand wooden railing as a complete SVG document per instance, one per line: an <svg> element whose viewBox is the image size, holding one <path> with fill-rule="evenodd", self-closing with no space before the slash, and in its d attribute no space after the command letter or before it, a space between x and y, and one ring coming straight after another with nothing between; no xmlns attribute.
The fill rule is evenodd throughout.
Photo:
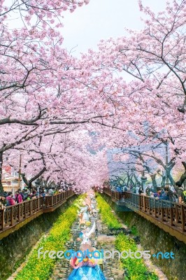
<svg viewBox="0 0 186 280"><path fill-rule="evenodd" d="M146 186L145 193L143 192L143 187L141 183L136 183L133 185L123 185L123 186L112 186L111 190L128 193L136 193L137 195L147 195L149 197L154 197L156 200L169 200L171 202L186 203L186 190L183 186L165 186L165 187L153 187Z"/></svg>

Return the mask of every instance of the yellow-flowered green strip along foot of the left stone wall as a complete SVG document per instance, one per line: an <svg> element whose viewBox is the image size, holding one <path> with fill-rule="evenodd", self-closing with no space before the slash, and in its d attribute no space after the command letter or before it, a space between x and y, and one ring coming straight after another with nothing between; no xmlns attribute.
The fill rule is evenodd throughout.
<svg viewBox="0 0 186 280"><path fill-rule="evenodd" d="M77 218L77 207L72 205L52 226L48 237L41 239L38 246L29 256L27 264L17 274L15 280L47 280L50 277L52 268L57 258L49 258L48 254L38 258L38 248L43 247L42 251L64 251L64 245L70 237L71 226Z"/></svg>

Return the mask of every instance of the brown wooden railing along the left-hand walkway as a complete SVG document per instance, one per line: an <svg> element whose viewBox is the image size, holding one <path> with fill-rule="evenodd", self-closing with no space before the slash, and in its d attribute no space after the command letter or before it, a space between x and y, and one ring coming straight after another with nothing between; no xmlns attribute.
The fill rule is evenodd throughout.
<svg viewBox="0 0 186 280"><path fill-rule="evenodd" d="M44 209L52 209L73 195L73 190L66 190L57 195L36 197L31 200L0 209L0 233L10 226L16 225Z"/></svg>

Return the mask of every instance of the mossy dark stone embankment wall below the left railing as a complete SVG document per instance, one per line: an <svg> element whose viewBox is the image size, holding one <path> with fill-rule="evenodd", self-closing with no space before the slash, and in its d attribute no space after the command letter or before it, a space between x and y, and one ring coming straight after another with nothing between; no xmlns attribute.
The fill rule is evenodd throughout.
<svg viewBox="0 0 186 280"><path fill-rule="evenodd" d="M6 280L24 262L31 248L41 236L50 230L60 214L73 202L71 197L53 212L42 214L20 230L0 240L0 279Z"/></svg>

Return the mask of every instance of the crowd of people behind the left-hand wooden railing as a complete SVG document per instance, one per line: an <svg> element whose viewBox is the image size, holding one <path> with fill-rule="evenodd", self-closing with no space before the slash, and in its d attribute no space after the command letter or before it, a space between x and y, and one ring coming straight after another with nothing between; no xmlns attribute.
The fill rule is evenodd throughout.
<svg viewBox="0 0 186 280"><path fill-rule="evenodd" d="M57 195L58 193L65 192L66 190L69 190L71 187L62 187L62 188L41 188L36 190L36 188L31 188L29 190L28 188L24 188L23 190L18 189L15 192L15 195L13 195L12 192L4 192L3 195L0 196L0 209L5 209L8 206L15 205L17 203L24 202L25 200L33 200L37 197L46 197L50 195Z"/></svg>

